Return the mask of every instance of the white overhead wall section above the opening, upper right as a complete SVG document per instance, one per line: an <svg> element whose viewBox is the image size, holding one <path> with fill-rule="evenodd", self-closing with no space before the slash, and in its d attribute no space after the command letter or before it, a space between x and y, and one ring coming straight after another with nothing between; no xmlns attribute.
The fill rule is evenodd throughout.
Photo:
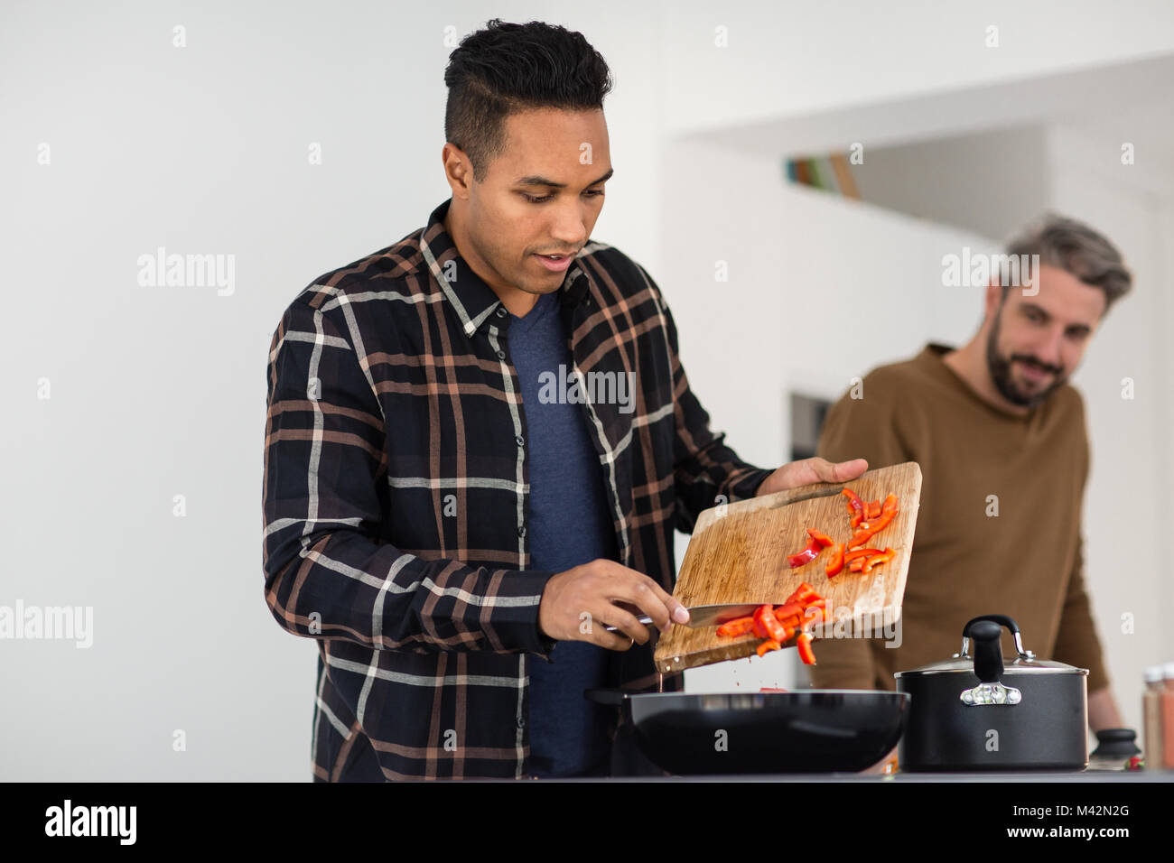
<svg viewBox="0 0 1174 863"><path fill-rule="evenodd" d="M1161 0L662 0L669 133L870 106L1174 49ZM986 46L998 27L998 47ZM727 47L715 45L724 27ZM634 34L640 38L642 34Z"/></svg>

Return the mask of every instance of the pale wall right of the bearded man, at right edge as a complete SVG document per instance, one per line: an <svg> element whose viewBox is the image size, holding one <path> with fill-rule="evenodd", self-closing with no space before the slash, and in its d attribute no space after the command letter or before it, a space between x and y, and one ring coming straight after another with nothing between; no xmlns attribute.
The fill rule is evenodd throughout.
<svg viewBox="0 0 1174 863"><path fill-rule="evenodd" d="M1128 135L1128 133L1125 133ZM1105 318L1073 383L1085 397L1092 467L1085 495L1085 575L1113 688L1126 723L1141 722L1141 669L1174 658L1168 574L1170 507L1154 505L1174 480L1170 393L1174 286L1168 230L1168 162L1149 149L1121 164L1120 141L1073 128L1052 129L1051 204L1086 220L1121 249L1134 275L1131 295ZM1125 139L1127 140L1127 139ZM1102 146L1101 146L1102 144ZM1154 164L1159 162L1159 164ZM1168 228L1168 225L1167 225ZM1132 399L1122 380L1132 378Z"/></svg>

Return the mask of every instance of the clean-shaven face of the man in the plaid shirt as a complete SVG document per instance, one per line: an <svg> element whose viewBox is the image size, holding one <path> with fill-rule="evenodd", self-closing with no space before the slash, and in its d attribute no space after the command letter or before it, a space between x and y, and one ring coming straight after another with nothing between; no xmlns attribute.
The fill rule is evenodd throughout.
<svg viewBox="0 0 1174 863"><path fill-rule="evenodd" d="M512 114L505 127L504 151L470 186L470 241L499 288L549 294L603 208L607 123L602 110L540 108ZM540 255L565 257L544 263Z"/></svg>

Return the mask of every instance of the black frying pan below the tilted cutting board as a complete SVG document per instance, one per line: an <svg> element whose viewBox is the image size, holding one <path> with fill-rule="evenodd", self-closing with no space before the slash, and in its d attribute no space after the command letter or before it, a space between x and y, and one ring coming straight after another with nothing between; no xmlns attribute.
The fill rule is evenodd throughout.
<svg viewBox="0 0 1174 863"><path fill-rule="evenodd" d="M906 693L632 693L587 689L620 707L636 746L673 774L856 771L900 740Z"/></svg>

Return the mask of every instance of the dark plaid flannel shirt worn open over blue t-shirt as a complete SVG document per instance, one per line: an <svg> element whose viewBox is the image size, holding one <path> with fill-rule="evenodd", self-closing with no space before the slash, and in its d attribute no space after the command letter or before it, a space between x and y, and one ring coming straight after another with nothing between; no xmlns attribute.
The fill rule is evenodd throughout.
<svg viewBox="0 0 1174 863"><path fill-rule="evenodd" d="M316 279L270 344L265 600L318 643L315 781L337 780L356 744L387 780L527 775L526 661L549 661L538 608L553 573L529 568L510 316L457 254L450 203ZM620 562L672 591L674 528L770 471L709 430L643 268L589 242L559 294L580 392L593 372L635 384L630 404L583 410ZM654 679L648 646L615 656L618 685Z"/></svg>

